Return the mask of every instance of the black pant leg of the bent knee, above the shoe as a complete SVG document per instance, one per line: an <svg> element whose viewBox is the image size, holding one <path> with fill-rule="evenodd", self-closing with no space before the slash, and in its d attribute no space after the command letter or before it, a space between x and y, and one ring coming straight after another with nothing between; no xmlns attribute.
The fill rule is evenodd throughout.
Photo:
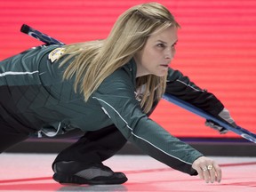
<svg viewBox="0 0 256 192"><path fill-rule="evenodd" d="M125 143L126 139L114 124L99 131L85 132L76 143L62 150L53 164L60 161L100 163L114 156Z"/></svg>

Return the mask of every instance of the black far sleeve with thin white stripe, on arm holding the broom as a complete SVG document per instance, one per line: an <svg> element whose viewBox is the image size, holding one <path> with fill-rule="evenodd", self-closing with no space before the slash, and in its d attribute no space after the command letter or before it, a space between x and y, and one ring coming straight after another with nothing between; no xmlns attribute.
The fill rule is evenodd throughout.
<svg viewBox="0 0 256 192"><path fill-rule="evenodd" d="M168 71L165 92L176 96L180 100L185 100L213 116L218 116L224 108L215 95L196 86L189 80L188 76L183 76L179 70L172 68L169 68Z"/></svg>

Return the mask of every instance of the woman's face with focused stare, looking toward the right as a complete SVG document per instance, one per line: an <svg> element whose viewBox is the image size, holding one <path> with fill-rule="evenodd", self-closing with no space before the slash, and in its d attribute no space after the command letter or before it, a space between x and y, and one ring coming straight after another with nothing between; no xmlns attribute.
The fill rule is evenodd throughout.
<svg viewBox="0 0 256 192"><path fill-rule="evenodd" d="M137 77L149 74L164 76L174 57L177 41L177 28L173 26L149 36L143 49L134 55Z"/></svg>

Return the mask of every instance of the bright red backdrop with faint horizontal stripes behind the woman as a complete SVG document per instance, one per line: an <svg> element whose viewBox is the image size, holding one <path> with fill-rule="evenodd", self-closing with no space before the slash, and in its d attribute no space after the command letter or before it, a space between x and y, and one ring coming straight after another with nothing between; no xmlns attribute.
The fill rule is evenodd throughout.
<svg viewBox="0 0 256 192"><path fill-rule="evenodd" d="M122 12L146 2L150 1L0 0L0 60L42 44L20 33L23 23L66 44L102 39L108 36ZM256 1L157 2L164 4L181 26L171 67L214 93L228 108L236 124L256 132ZM255 152L254 144L235 133L220 135L205 127L203 118L165 100L151 118L181 140L192 144L203 142L201 146L205 148L209 147L207 143L214 142L215 147L220 147L216 149L219 156L221 149L224 150L223 142L229 142L231 150L237 151L234 146L245 145L241 149L243 153L244 150Z"/></svg>

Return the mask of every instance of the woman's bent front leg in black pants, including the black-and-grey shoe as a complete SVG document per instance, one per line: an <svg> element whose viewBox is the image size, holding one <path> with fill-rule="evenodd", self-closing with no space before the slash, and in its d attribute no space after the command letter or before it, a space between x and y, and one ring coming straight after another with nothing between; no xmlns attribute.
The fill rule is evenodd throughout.
<svg viewBox="0 0 256 192"><path fill-rule="evenodd" d="M115 125L84 136L64 149L52 164L53 179L73 184L122 184L127 178L123 172L113 172L101 162L114 156L126 140Z"/></svg>

